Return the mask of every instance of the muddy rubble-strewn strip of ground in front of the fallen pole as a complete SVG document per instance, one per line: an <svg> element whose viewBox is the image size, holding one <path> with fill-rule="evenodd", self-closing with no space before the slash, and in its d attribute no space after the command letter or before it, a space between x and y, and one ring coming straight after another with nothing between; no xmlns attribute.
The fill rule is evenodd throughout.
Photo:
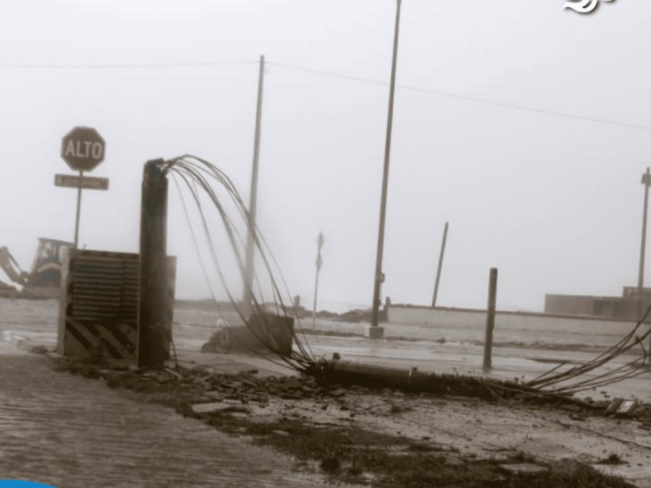
<svg viewBox="0 0 651 488"><path fill-rule="evenodd" d="M505 448L488 435L492 428L482 425L489 419L512 425L513 418L522 423L532 417L566 423L613 421L597 419L594 411L577 405L573 412L551 406L532 411L531 406L479 399L319 385L309 377L259 378L201 368L136 372L60 358L52 366L103 380L110 388L139 392L141 401L173 407L223 432L250 436L293 455L306 467L316 466L334 482L378 487L633 486L580 459L536 456L517 449L517 444ZM571 415L582 420L572 420ZM454 428L460 421L470 428ZM528 436L524 430L518 435ZM630 462L625 458L623 452L606 452L590 461Z"/></svg>

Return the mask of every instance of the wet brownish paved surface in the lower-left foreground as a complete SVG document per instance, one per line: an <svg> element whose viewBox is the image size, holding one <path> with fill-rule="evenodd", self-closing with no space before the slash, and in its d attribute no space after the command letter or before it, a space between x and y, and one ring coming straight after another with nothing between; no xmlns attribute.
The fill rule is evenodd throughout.
<svg viewBox="0 0 651 488"><path fill-rule="evenodd" d="M0 341L0 479L59 488L323 486L293 460Z"/></svg>

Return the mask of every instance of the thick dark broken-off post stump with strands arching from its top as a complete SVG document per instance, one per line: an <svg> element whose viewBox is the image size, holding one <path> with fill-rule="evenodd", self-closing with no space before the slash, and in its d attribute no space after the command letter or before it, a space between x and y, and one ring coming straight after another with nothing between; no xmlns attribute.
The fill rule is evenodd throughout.
<svg viewBox="0 0 651 488"><path fill-rule="evenodd" d="M162 159L149 161L142 173L140 313L138 367L160 366L169 358L165 330L168 289L167 179Z"/></svg>

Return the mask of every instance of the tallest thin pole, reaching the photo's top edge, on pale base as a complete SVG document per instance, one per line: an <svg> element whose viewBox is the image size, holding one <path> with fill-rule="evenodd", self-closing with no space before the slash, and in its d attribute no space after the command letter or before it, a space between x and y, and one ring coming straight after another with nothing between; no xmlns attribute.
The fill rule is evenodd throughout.
<svg viewBox="0 0 651 488"><path fill-rule="evenodd" d="M380 315L380 293L384 283L382 273L382 257L384 254L384 221L387 212L387 188L389 185L389 161L391 154L391 129L393 127L393 99L396 92L396 66L398 64L398 30L400 27L400 4L402 0L396 0L396 28L393 35L393 58L391 60L391 82L389 87L389 112L387 114L387 136L384 142L384 172L382 173L382 197L380 201L380 225L377 233L377 254L375 257L375 276L373 289L373 312L371 314L371 330L369 335L372 338L382 337L382 329L373 331L378 327Z"/></svg>

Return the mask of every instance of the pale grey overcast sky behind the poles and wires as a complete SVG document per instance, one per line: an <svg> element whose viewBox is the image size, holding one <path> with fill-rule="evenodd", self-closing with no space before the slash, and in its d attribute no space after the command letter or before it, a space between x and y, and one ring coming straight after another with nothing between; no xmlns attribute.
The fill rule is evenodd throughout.
<svg viewBox="0 0 651 488"><path fill-rule="evenodd" d="M651 3L602 2L590 15L563 4L403 1L382 296L430 303L446 220L442 306L485 307L491 267L499 308L541 310L545 293L619 295L637 284ZM107 141L92 176L110 189L83 197L80 243L90 249L137 251L149 159L202 156L248 199L263 54L261 230L304 305L323 231L319 303L370 307L395 5L5 2L0 245L28 268L38 236L72 240L76 191L52 180L71 172L60 139L76 125ZM207 297L175 195L169 225L177 296Z"/></svg>

